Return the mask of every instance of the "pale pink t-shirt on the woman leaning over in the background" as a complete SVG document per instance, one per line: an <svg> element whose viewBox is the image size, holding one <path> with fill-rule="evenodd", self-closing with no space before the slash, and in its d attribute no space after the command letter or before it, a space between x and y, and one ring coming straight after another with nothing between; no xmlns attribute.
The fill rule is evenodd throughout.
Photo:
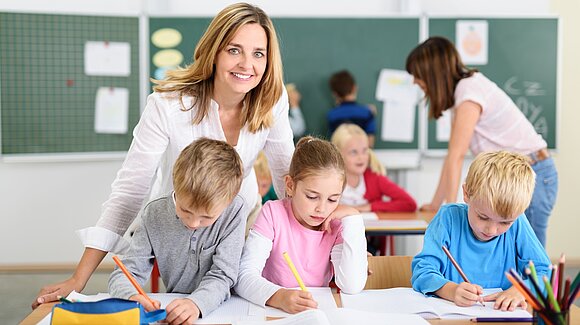
<svg viewBox="0 0 580 325"><path fill-rule="evenodd" d="M546 148L546 141L511 98L479 72L459 81L452 112L468 100L481 106L481 116L469 144L474 155L496 150L527 155Z"/></svg>

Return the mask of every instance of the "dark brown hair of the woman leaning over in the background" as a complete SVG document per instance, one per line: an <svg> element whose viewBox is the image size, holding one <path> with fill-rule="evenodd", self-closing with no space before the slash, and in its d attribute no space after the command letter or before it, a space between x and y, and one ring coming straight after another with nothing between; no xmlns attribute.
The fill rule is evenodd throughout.
<svg viewBox="0 0 580 325"><path fill-rule="evenodd" d="M459 80L477 72L463 64L453 43L438 36L430 37L413 49L407 56L405 68L425 83L429 118L434 119L455 105L454 93Z"/></svg>

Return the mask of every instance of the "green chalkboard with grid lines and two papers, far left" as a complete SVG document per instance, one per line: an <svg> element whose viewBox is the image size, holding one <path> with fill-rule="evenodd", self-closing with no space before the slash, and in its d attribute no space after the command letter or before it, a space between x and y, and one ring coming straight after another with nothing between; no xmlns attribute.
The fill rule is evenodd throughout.
<svg viewBox="0 0 580 325"><path fill-rule="evenodd" d="M128 77L87 76L87 41L130 44ZM5 156L126 151L139 119L139 21L0 13L1 153ZM126 134L95 133L99 87L129 90Z"/></svg>

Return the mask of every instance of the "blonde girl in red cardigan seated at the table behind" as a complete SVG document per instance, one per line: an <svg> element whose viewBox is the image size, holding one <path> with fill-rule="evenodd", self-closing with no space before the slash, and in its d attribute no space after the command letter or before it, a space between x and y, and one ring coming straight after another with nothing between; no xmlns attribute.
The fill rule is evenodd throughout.
<svg viewBox="0 0 580 325"><path fill-rule="evenodd" d="M415 200L385 176L384 167L369 149L363 129L354 124L342 124L334 131L331 141L340 150L346 170L346 188L340 203L361 212L407 212L417 209ZM390 200L384 201L384 196Z"/></svg>

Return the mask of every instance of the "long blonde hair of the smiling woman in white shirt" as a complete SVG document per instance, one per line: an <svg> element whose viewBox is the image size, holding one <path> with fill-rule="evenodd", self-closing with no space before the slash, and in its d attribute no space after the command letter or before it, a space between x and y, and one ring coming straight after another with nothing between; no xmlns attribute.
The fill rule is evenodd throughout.
<svg viewBox="0 0 580 325"><path fill-rule="evenodd" d="M246 24L259 24L268 39L266 70L260 83L250 90L244 99L241 114L241 127L248 126L252 133L273 123L272 109L282 96L283 75L282 59L276 30L266 13L247 3L232 4L223 9L210 23L209 27L197 43L193 55L193 63L185 68L177 68L167 72L164 80L151 79L157 92L177 92L180 100L183 96L194 98L193 106L198 110L193 119L199 124L208 114L213 96L215 60L219 51L224 50L240 28Z"/></svg>

